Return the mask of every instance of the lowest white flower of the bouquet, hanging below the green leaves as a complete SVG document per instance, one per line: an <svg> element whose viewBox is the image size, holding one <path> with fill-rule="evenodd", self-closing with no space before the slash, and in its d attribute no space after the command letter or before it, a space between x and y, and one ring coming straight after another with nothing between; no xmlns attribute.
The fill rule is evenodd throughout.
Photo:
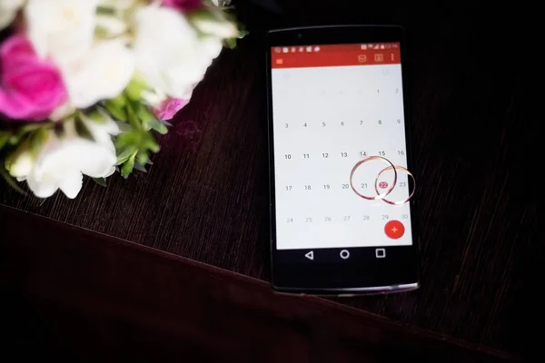
<svg viewBox="0 0 545 363"><path fill-rule="evenodd" d="M19 181L26 180L39 198L50 197L57 189L68 198L75 198L82 188L83 174L105 178L115 171L117 158L111 135L117 134L119 128L109 117L104 120L104 123L83 121L94 141L80 137L74 122L64 123L63 137L48 132L35 158L31 161L22 152L10 167L10 173Z"/></svg>

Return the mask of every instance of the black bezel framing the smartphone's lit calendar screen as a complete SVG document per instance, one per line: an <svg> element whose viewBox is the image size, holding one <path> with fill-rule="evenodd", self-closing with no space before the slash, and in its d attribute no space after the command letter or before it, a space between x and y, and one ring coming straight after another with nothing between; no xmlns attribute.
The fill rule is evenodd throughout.
<svg viewBox="0 0 545 363"><path fill-rule="evenodd" d="M359 44L400 42L401 76L405 117L407 164L412 171L412 152L407 97L407 72L403 29L392 25L333 25L272 30L267 34L267 116L269 130L269 181L271 218L271 265L272 287L284 292L300 292L318 295L384 293L417 289L419 286L416 218L414 199L411 204L411 246L387 248L385 259L377 259L373 247L347 248L351 259L332 262L304 260L305 250L276 249L276 214L274 181L274 130L272 123L272 64L271 49L274 46L304 44ZM383 248L383 247L380 247ZM333 253L343 249L316 249L320 253ZM297 252L299 251L299 252ZM355 252L355 256L354 256ZM388 253L390 252L390 253ZM298 253L298 255L294 255ZM300 257L299 254L301 255Z"/></svg>

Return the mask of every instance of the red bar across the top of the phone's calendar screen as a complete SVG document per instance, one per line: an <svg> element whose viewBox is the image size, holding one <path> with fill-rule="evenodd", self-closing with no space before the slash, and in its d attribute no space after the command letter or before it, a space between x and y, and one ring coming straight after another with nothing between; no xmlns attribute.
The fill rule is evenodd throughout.
<svg viewBox="0 0 545 363"><path fill-rule="evenodd" d="M400 64L400 44L325 44L275 46L272 68Z"/></svg>

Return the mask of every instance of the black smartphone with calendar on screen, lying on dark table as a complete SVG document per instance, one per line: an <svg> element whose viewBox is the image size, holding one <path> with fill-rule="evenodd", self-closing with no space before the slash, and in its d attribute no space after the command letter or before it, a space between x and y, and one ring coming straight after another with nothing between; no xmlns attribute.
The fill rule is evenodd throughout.
<svg viewBox="0 0 545 363"><path fill-rule="evenodd" d="M397 26L267 34L274 289L418 288L404 51Z"/></svg>

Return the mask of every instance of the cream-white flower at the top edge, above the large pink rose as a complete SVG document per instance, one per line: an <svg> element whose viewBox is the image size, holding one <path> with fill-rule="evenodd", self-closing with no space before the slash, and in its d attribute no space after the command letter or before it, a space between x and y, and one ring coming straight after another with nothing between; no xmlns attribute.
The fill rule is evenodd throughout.
<svg viewBox="0 0 545 363"><path fill-rule="evenodd" d="M93 44L98 0L28 0L27 34L41 57L64 64Z"/></svg>

